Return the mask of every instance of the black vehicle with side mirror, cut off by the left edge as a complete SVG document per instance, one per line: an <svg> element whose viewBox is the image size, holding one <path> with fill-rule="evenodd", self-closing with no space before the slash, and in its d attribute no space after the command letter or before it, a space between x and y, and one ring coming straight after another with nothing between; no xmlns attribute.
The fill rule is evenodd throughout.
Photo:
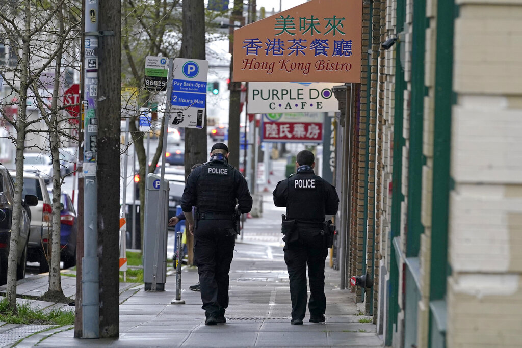
<svg viewBox="0 0 522 348"><path fill-rule="evenodd" d="M18 260L16 266L16 279L26 276L27 247L31 223L30 206L38 203L34 195L23 195L22 217L20 219L20 235L18 239ZM13 227L13 210L15 208L15 182L0 164L0 285L7 283L7 262L9 245L11 240L11 228Z"/></svg>

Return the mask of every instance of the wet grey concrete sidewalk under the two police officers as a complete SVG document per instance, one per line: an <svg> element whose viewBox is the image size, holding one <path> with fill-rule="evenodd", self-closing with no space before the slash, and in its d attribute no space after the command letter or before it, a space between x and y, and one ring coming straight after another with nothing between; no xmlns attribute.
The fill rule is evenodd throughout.
<svg viewBox="0 0 522 348"><path fill-rule="evenodd" d="M279 162L276 162L276 173L284 169L284 162ZM188 286L198 282L197 270L185 267L181 286L181 299L185 304L171 304L175 299L176 284L172 269L168 272L170 275L163 292L146 292L143 284L120 284L118 339L74 339L73 327L31 326L28 330L29 326L22 326L18 328L21 331L18 340L23 340L16 346L381 347L383 343L376 334L372 317L362 315L363 305L354 302L354 294L339 289L340 273L328 267L328 260L325 272L326 322L310 323L307 314L304 325L290 325L289 280L280 233L284 208L274 207L271 197L271 190L281 179L279 176L280 173L271 178L271 184L263 196L263 217L248 219L236 242L230 271L230 305L225 314L226 324L205 326L200 293L188 290ZM62 277L62 287L67 296L74 296L75 284L75 278ZM46 276L38 275L20 282L18 293L40 296L47 286ZM54 304L34 305L51 308ZM13 326L0 326L0 347L14 346L13 343L18 340L3 342L13 339L15 329Z"/></svg>

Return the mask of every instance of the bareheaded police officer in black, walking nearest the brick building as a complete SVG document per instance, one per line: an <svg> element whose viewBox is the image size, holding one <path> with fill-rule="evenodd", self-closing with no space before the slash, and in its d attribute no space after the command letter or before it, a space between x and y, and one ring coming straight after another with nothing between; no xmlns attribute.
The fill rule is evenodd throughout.
<svg viewBox="0 0 522 348"><path fill-rule="evenodd" d="M328 248L323 222L325 214L337 213L339 197L334 186L314 174L315 162L312 152L299 152L295 166L297 173L280 181L273 195L276 207L287 207L287 222L294 224L283 238L283 250L290 278L290 323L302 325L307 300L306 265L310 277L310 322L325 321L324 272Z"/></svg>

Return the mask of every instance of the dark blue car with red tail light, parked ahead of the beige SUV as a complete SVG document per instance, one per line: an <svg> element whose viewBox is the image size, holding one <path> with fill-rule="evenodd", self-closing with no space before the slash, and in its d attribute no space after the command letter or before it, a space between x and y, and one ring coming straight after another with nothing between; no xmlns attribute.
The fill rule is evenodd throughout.
<svg viewBox="0 0 522 348"><path fill-rule="evenodd" d="M52 199L53 190L48 188ZM78 215L68 193L60 195L60 260L64 268L76 266L76 237L78 235ZM44 248L48 247L48 239L43 239ZM49 248L50 249L50 248Z"/></svg>

